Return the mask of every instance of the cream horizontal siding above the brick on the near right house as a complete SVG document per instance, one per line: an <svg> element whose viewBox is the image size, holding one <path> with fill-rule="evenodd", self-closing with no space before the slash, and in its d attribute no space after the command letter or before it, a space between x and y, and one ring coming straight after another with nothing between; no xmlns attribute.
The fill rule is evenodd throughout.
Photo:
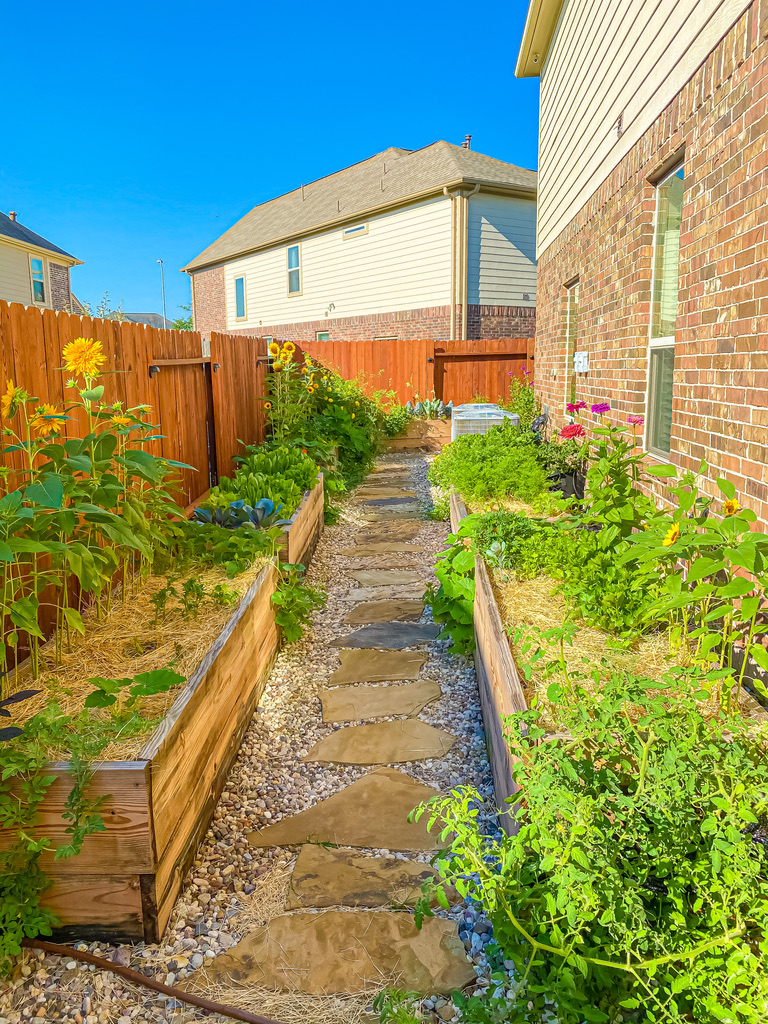
<svg viewBox="0 0 768 1024"><path fill-rule="evenodd" d="M749 3L566 0L542 72L540 254L672 101Z"/></svg>

